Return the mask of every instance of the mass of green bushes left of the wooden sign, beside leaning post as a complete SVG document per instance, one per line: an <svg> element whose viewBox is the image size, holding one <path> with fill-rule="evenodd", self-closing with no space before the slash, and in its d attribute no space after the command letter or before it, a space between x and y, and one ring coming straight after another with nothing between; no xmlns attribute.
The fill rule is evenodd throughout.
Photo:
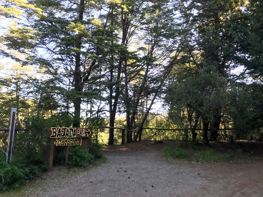
<svg viewBox="0 0 263 197"><path fill-rule="evenodd" d="M32 116L26 118L24 124L27 131L18 132L14 139L15 154L12 156L10 165L5 162L6 157L1 151L0 177L4 181L0 181L0 190L17 187L26 179L32 179L39 170L47 170L44 153L49 140L47 138L48 128L68 127L72 124L72 118L64 114L57 114L52 118ZM54 165L56 164L56 159L54 159Z"/></svg>

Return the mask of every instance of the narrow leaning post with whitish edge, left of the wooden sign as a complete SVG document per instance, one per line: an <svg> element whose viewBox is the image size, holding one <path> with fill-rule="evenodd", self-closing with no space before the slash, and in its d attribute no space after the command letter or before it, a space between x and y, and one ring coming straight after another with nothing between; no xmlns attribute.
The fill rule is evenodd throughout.
<svg viewBox="0 0 263 197"><path fill-rule="evenodd" d="M11 118L10 118L10 126L9 126L9 135L6 149L6 162L10 162L12 157L12 149L13 149L13 140L14 140L14 132L15 132L15 117L16 117L16 108L12 108L11 110Z"/></svg>

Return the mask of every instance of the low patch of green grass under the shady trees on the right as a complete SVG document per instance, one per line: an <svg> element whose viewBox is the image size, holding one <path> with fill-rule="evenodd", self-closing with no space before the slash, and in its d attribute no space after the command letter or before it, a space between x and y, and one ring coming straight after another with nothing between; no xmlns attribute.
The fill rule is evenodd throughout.
<svg viewBox="0 0 263 197"><path fill-rule="evenodd" d="M214 149L201 149L195 150L193 147L190 148L179 148L179 147L164 147L162 154L166 157L173 159L185 159L190 161L231 161L235 158L241 158L241 151L226 151L219 152Z"/></svg>

